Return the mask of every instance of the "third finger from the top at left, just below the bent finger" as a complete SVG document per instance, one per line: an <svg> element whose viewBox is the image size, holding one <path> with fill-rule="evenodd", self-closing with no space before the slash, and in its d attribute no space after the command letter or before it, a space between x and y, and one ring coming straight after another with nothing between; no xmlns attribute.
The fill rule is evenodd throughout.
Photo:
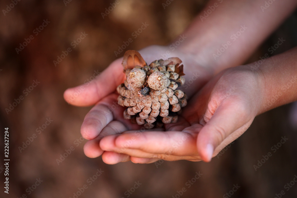
<svg viewBox="0 0 297 198"><path fill-rule="evenodd" d="M106 127L102 129L100 134L93 140L89 140L83 147L85 155L89 158L96 158L102 155L103 151L99 147L100 140L108 135L120 134L126 131L127 127L119 121L111 121Z"/></svg>

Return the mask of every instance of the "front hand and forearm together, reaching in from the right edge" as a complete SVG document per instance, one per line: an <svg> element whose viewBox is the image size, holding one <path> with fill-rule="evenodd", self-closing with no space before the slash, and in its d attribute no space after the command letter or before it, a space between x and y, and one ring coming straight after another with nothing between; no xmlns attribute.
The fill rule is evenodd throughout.
<svg viewBox="0 0 297 198"><path fill-rule="evenodd" d="M157 161L154 158L210 161L243 134L256 115L297 100L296 54L297 47L267 58L257 68L252 63L226 69L189 100L178 123L166 125L166 132L108 136L100 147L130 155L138 163Z"/></svg>

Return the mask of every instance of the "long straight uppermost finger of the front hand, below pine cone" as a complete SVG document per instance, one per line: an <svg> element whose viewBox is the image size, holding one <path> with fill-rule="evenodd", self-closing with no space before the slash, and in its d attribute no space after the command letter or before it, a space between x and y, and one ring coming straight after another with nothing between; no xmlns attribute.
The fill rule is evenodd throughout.
<svg viewBox="0 0 297 198"><path fill-rule="evenodd" d="M197 154L196 137L186 132L134 132L129 134L121 134L113 137L105 137L101 140L101 144L113 146L118 149L134 149L146 153L170 154L176 156L185 156ZM109 149L115 149L110 147ZM126 152L125 152L126 153ZM141 156L137 156L141 157ZM149 156L145 156L148 158ZM157 158L154 156L153 158Z"/></svg>

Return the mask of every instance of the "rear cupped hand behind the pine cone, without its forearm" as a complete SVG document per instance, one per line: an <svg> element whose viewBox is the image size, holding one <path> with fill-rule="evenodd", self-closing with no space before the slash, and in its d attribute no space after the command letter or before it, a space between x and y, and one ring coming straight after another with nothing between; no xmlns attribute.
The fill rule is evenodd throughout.
<svg viewBox="0 0 297 198"><path fill-rule="evenodd" d="M148 64L160 58L181 58L186 67L184 71L186 83L183 89L189 96L197 92L210 79L213 73L210 67L200 66L197 60L190 55L179 52L178 49L168 53L168 47L154 45L139 52ZM111 63L91 83L69 88L64 92L64 99L69 104L82 107L95 104L85 116L80 129L82 136L89 140L84 146L84 153L91 158L102 155L103 161L108 164L129 161L130 156L125 153L119 154L114 151L103 151L99 147L100 140L108 135L141 129L141 126L131 124L130 120L123 118L124 107L117 104L118 94L116 93L116 87L126 79L121 63L122 58L119 58Z"/></svg>

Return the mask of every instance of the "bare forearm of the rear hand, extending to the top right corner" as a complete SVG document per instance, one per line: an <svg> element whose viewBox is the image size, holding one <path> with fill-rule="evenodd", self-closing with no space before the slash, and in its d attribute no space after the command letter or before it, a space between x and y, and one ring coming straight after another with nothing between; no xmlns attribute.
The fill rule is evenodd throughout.
<svg viewBox="0 0 297 198"><path fill-rule="evenodd" d="M265 1L209 1L184 32L187 39L180 49L215 73L243 64L297 6L294 0Z"/></svg>

